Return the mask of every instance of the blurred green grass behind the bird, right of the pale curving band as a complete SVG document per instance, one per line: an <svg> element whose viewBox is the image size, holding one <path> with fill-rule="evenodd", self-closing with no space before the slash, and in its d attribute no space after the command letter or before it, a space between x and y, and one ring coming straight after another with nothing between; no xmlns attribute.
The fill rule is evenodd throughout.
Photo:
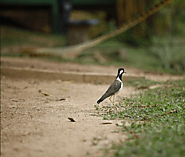
<svg viewBox="0 0 185 157"><path fill-rule="evenodd" d="M160 38L158 40L160 41ZM158 45L154 41L149 47L136 48L112 39L84 51L72 61L82 64L128 66L155 73L185 74L185 47L177 45L178 42L174 47L166 43ZM94 57L95 52L102 55L105 60L103 63Z"/></svg>

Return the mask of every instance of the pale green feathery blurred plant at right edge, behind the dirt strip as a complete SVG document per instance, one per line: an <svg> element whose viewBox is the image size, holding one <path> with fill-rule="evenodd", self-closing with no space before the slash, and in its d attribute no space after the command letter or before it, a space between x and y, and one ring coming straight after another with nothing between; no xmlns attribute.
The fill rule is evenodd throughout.
<svg viewBox="0 0 185 157"><path fill-rule="evenodd" d="M174 40L154 38L149 52L160 61L165 70L172 71L173 74L180 74L185 70L185 47Z"/></svg>

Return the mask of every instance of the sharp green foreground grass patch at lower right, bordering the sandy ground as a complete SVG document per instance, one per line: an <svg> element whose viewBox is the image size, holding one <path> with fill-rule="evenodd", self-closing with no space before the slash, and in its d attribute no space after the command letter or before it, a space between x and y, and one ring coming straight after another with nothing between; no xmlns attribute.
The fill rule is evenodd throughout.
<svg viewBox="0 0 185 157"><path fill-rule="evenodd" d="M117 107L120 111L107 111L103 118L128 121L129 126L124 122L119 125L128 139L106 152L111 151L116 157L184 156L185 80L168 81L163 87L145 90L119 102Z"/></svg>

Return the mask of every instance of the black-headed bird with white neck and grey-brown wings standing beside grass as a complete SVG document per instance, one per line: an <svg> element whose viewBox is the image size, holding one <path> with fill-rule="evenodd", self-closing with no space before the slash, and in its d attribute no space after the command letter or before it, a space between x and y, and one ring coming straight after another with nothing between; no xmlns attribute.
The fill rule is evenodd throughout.
<svg viewBox="0 0 185 157"><path fill-rule="evenodd" d="M124 68L119 68L116 79L109 86L109 88L103 94L103 96L97 101L97 104L101 103L104 99L106 99L108 97L110 97L109 100L111 101L111 97L113 96L113 102L111 101L111 103L113 104L114 109L116 109L115 105L114 105L114 98L115 98L115 94L118 93L119 91L121 91L123 88L123 81L122 81L122 74L123 73L126 73Z"/></svg>

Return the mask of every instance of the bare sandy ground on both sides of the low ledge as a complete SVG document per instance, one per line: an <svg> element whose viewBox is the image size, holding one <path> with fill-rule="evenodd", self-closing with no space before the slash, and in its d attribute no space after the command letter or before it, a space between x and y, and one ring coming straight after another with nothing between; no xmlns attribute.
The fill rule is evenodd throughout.
<svg viewBox="0 0 185 157"><path fill-rule="evenodd" d="M2 58L1 63L2 67L117 72L117 67L60 64L29 58ZM130 71L143 73L136 69ZM156 75L154 79L159 76ZM165 76L167 78L168 75ZM111 124L103 124L106 121L102 117L92 116L97 112L94 108L97 99L107 88L108 85L103 84L23 80L1 76L1 156L102 156L101 148L127 138L125 134L115 132L118 129L115 124L121 121L113 120ZM124 87L117 101L134 92L134 88ZM109 104L107 99L101 105ZM75 122L71 122L68 117Z"/></svg>

